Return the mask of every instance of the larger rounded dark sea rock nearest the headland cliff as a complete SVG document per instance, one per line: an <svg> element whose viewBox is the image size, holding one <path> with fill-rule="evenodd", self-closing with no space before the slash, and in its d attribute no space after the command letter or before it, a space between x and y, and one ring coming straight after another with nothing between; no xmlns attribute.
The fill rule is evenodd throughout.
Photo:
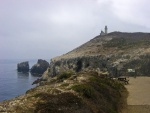
<svg viewBox="0 0 150 113"><path fill-rule="evenodd" d="M38 59L37 64L32 66L31 73L43 74L48 67L49 67L49 63L46 60Z"/></svg>

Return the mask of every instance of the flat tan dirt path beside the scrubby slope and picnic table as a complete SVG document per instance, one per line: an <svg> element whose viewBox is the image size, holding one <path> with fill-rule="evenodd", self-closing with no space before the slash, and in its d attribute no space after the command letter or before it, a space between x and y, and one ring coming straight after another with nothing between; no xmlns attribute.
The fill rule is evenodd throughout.
<svg viewBox="0 0 150 113"><path fill-rule="evenodd" d="M150 113L150 77L130 78L127 109L123 113Z"/></svg>

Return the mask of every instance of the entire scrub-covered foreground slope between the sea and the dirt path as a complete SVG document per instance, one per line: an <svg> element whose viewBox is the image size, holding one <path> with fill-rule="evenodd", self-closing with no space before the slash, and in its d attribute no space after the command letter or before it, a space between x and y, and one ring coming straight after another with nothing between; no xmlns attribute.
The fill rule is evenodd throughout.
<svg viewBox="0 0 150 113"><path fill-rule="evenodd" d="M72 78L63 72L52 83L38 86L15 101L7 110L16 113L119 113L126 105L125 87L96 72L80 72ZM63 81L61 81L63 80ZM12 107L13 106L13 107ZM0 106L1 108L1 106Z"/></svg>

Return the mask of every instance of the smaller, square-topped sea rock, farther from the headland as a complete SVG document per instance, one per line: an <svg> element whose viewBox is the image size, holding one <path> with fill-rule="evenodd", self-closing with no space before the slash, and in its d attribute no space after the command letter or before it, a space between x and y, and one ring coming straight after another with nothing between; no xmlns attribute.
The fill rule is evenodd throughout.
<svg viewBox="0 0 150 113"><path fill-rule="evenodd" d="M21 62L17 64L18 72L29 72L29 62Z"/></svg>

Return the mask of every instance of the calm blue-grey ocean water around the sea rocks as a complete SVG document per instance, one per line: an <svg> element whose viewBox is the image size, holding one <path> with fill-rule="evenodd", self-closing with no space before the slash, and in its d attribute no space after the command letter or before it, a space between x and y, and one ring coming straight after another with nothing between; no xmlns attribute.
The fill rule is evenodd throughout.
<svg viewBox="0 0 150 113"><path fill-rule="evenodd" d="M23 61L29 61L30 68L37 63L37 60L0 60L0 102L35 87L32 83L39 76L17 72L17 63Z"/></svg>

